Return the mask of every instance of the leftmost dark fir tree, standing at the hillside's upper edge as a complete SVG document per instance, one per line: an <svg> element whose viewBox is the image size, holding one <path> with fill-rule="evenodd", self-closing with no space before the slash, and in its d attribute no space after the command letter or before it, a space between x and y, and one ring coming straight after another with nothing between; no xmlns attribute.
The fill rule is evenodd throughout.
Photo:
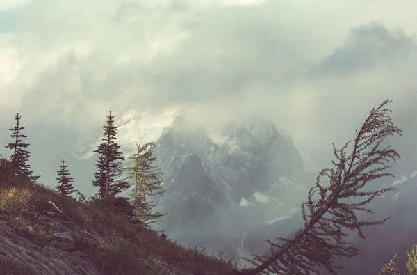
<svg viewBox="0 0 417 275"><path fill-rule="evenodd" d="M24 150L30 144L22 143L22 139L26 138L24 134L22 134L22 130L25 128L24 126L20 126L20 118L19 113L16 114L15 120L16 125L10 131L13 131L11 137L15 139L13 143L8 143L6 148L10 148L13 150L13 155L10 156L10 163L13 167L13 173L15 175L24 175L28 178L30 182L35 183L40 175L33 175L33 171L31 171L31 166L27 164L28 158L30 157L30 152L28 150Z"/></svg>

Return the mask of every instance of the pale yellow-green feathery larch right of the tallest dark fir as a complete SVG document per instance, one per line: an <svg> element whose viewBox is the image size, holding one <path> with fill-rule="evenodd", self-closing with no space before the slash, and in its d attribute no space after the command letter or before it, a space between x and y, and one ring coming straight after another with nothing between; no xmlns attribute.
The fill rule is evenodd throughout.
<svg viewBox="0 0 417 275"><path fill-rule="evenodd" d="M161 221L165 214L153 212L154 207L158 204L156 201L150 201L149 196L156 196L165 193L163 190L160 175L162 175L158 166L154 165L156 158L153 150L155 143L148 142L142 145L142 142L136 143L136 153L129 159L133 161L133 166L126 167L128 179L133 180L132 201L134 206L134 217L145 226Z"/></svg>

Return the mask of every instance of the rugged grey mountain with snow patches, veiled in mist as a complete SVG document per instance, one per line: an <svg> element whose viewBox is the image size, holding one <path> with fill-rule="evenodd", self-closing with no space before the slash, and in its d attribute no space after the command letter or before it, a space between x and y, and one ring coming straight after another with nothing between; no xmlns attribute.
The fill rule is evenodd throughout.
<svg viewBox="0 0 417 275"><path fill-rule="evenodd" d="M313 184L292 141L268 120L226 125L208 134L177 117L156 144L167 189L162 228L183 242L225 249L233 256L241 250L240 240L213 243L297 211Z"/></svg>

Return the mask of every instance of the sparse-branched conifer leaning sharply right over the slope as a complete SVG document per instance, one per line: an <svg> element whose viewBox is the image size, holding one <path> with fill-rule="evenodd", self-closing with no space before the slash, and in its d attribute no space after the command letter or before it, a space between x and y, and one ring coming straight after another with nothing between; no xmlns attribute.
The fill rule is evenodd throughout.
<svg viewBox="0 0 417 275"><path fill-rule="evenodd" d="M359 220L355 212L373 214L365 205L377 196L395 190L362 189L371 180L394 177L385 171L391 167L388 165L390 160L395 162L400 155L391 146L379 148L387 136L402 135L402 130L393 124L389 116L391 110L385 108L390 102L391 100L386 100L379 107L373 107L359 132L356 132L350 155L346 155L346 150L351 141L345 143L340 150L336 150L333 144L336 158L332 161L334 168L325 168L320 172L316 178L316 186L310 189L307 201L302 203L304 228L297 230L294 237L279 237L278 242L267 240L270 244L269 256L253 255L252 260L245 258L256 267L236 271L234 275L309 275L313 272L320 273L318 267L325 267L336 275L337 269L343 269L335 264L337 258L352 258L363 253L350 242L343 241L343 237L347 236L343 229L357 230L365 239L363 227L379 225L389 219ZM320 183L322 178L328 178L329 187ZM359 199L357 202L347 203L347 198Z"/></svg>

